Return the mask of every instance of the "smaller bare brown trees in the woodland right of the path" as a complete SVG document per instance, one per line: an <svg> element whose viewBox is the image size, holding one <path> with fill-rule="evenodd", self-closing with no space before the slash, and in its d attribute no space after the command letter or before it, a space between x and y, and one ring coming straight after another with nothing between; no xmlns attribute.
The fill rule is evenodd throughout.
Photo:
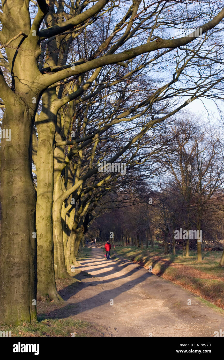
<svg viewBox="0 0 224 360"><path fill-rule="evenodd" d="M198 120L185 116L167 127L173 141L156 159L162 165L159 176L151 175L149 181L141 176L132 194L113 194L110 212L99 213L88 234L142 248L153 248L157 238L163 240L165 254L172 250L175 255L178 246L189 257L189 249L196 249L198 261L203 248L223 249L224 142L217 123L215 131ZM148 164L142 166L147 173ZM193 237L200 231L201 239ZM223 266L224 251L220 255Z"/></svg>

